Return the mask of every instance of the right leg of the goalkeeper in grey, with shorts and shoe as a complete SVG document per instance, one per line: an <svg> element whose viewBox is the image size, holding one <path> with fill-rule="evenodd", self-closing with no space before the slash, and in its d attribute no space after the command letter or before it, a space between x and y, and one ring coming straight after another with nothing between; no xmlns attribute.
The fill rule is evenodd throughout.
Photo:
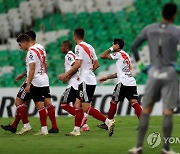
<svg viewBox="0 0 180 154"><path fill-rule="evenodd" d="M162 130L165 139L170 138L173 130L173 109L178 107L179 102L179 83L177 76L174 75L173 81L164 81L162 88L163 101L163 122ZM173 98L173 99L172 99ZM170 144L163 140L162 153L170 153Z"/></svg>

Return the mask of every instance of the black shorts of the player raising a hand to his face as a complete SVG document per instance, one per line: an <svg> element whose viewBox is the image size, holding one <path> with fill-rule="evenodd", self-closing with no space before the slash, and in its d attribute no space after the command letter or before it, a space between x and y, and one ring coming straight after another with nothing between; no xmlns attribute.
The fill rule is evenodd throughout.
<svg viewBox="0 0 180 154"><path fill-rule="evenodd" d="M115 102L123 102L127 98L139 100L136 86L124 86L122 83L118 83L114 88L112 100Z"/></svg>

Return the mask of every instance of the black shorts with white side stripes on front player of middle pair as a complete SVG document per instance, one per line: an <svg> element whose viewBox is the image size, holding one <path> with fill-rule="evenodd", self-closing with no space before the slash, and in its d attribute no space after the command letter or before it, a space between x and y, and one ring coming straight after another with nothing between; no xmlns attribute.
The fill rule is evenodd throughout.
<svg viewBox="0 0 180 154"><path fill-rule="evenodd" d="M88 85L85 82L82 82L78 87L77 98L80 99L81 102L91 103L95 89L96 85Z"/></svg>

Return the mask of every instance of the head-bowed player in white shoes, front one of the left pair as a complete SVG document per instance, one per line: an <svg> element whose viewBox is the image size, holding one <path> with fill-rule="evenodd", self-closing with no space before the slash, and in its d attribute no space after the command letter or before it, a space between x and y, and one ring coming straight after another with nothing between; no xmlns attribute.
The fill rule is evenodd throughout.
<svg viewBox="0 0 180 154"><path fill-rule="evenodd" d="M51 96L45 63L46 55L43 50L31 44L30 38L26 34L19 35L17 42L23 51L28 51L26 55L27 80L23 91L25 93L31 92L30 95L38 109L41 123L39 135L47 135L47 113L44 98L50 98ZM21 134L21 131L18 134Z"/></svg>

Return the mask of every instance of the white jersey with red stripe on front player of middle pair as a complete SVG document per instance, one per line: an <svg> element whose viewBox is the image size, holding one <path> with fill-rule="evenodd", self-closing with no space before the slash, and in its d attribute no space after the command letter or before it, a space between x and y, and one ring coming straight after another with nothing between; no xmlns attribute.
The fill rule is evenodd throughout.
<svg viewBox="0 0 180 154"><path fill-rule="evenodd" d="M97 60L95 50L86 42L81 42L80 44L84 45L90 51L88 55L81 45L78 44L75 47L76 59L82 60L81 67L79 69L80 83L85 82L89 85L96 85L96 76L93 72L93 61Z"/></svg>

